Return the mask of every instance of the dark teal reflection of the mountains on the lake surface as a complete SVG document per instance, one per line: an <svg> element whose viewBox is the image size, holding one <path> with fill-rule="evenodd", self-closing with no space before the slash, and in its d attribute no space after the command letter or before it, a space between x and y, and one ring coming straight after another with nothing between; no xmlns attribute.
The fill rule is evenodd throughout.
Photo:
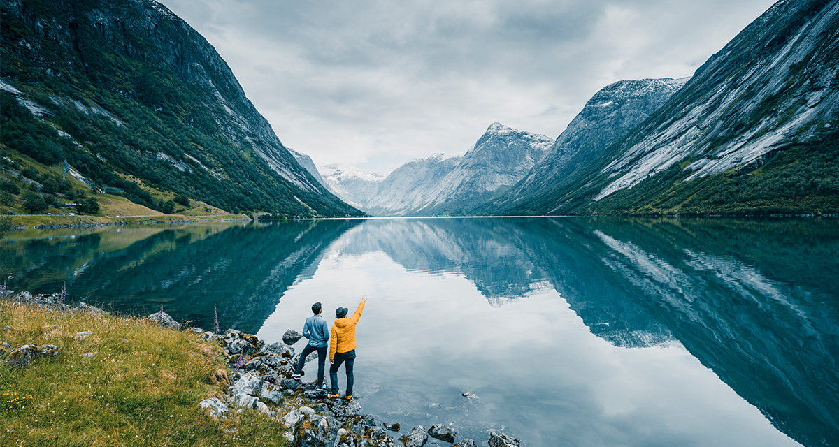
<svg viewBox="0 0 839 447"><path fill-rule="evenodd" d="M395 275L388 272L395 270L376 261L370 264L373 267L353 273L357 278L337 279L337 288L314 288L328 265L343 262L341 268L348 272L372 256L389 259L405 275L413 275L405 278L465 278L489 305L504 312L508 303L558 294L591 334L612 346L684 346L775 428L805 445L839 444L836 252L836 222L815 220L289 221L267 226L66 231L37 239L14 239L13 233L0 242L3 273L13 276L9 288L53 293L66 282L74 301L133 314L149 314L163 304L175 318L196 320L203 327L211 327L216 305L222 327L259 331L263 338L291 326L300 330L297 322L302 325L307 316L302 309L321 296L330 309L326 307L330 295L347 295L354 290L354 281L367 281L364 287L387 283ZM422 281L421 287L430 287L431 279ZM446 300L469 294L449 287L440 286L436 293L451 296L435 302L430 316L418 318L433 319L433 312L446 309ZM300 314L289 314L281 299L286 295L297 299L298 289L306 291L305 299L298 299ZM370 320L377 312L376 299L372 296L372 306L366 310ZM463 317L465 325L473 324L469 315ZM370 330L389 327L362 320L365 324ZM367 343L376 341L371 338ZM422 348L445 351L444 346ZM370 363L379 358L370 357ZM458 380L451 379L450 385L466 389L481 379ZM367 392L370 407L377 408L377 396L388 401L384 391ZM551 405L567 404L560 401ZM464 420L475 417L438 410L429 413ZM530 444L585 444L571 434L551 438L556 434L550 429L528 427L534 423L527 421L536 419L522 418L503 424L513 433L536 430L515 433ZM435 422L446 421L426 424ZM462 432L475 432L466 422L459 424L466 424ZM618 434L598 432L598 439L605 444L647 442L640 435L622 437L622 429L616 430ZM668 444L667 439L658 440Z"/></svg>

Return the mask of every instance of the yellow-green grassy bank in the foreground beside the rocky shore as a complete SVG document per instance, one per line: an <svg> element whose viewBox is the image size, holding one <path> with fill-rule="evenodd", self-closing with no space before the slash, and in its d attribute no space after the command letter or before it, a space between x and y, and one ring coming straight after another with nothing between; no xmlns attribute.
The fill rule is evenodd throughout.
<svg viewBox="0 0 839 447"><path fill-rule="evenodd" d="M283 424L263 413L218 421L198 407L223 395L227 364L195 334L0 301L0 327L7 325L0 341L53 344L60 354L25 368L0 365L2 445L288 444ZM93 334L76 339L83 330Z"/></svg>

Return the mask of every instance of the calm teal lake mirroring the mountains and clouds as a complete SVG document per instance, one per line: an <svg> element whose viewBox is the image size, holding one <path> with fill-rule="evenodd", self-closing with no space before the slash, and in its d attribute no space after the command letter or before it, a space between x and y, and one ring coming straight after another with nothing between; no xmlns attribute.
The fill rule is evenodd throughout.
<svg viewBox="0 0 839 447"><path fill-rule="evenodd" d="M836 220L281 221L18 231L0 273L204 328L215 304L268 342L366 294L355 394L402 433L821 446L839 445L837 254Z"/></svg>

